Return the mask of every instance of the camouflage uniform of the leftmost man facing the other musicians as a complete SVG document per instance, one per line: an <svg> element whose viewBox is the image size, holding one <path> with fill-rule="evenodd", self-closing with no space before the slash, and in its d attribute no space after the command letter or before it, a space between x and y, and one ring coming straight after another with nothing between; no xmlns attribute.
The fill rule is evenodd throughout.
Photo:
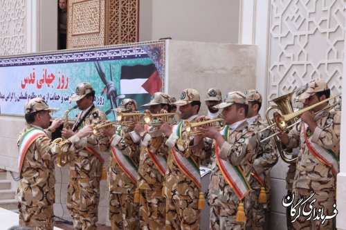
<svg viewBox="0 0 346 230"><path fill-rule="evenodd" d="M30 100L30 102L33 100L35 99ZM43 99L40 100L43 101ZM48 108L48 106L46 107ZM35 111L26 109L26 114L33 112ZM24 134L32 128L43 131L41 127L28 124L19 134L18 145L24 138ZM69 140L56 144L51 141L51 132L49 130L44 131L46 135L37 137L26 151L21 171L19 171L19 184L16 195L19 224L35 230L53 229L55 159L61 153L73 153L75 151L73 143L79 141L78 137L73 136Z"/></svg>

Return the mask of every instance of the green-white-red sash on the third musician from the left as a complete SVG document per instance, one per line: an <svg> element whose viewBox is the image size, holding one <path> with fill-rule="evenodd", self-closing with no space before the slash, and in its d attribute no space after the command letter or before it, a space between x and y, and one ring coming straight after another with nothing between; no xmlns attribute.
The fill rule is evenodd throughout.
<svg viewBox="0 0 346 230"><path fill-rule="evenodd" d="M118 127L117 133L121 136L122 130L120 126ZM137 184L139 180L138 167L134 164L131 158L128 155L122 154L121 151L114 146L111 146L111 153L116 164L120 166L122 171L132 180L132 182Z"/></svg>

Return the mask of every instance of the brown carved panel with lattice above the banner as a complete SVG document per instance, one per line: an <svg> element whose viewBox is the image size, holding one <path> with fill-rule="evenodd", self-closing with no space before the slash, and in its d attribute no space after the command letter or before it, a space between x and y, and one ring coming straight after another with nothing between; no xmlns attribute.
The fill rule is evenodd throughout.
<svg viewBox="0 0 346 230"><path fill-rule="evenodd" d="M138 41L138 0L69 0L68 48Z"/></svg>

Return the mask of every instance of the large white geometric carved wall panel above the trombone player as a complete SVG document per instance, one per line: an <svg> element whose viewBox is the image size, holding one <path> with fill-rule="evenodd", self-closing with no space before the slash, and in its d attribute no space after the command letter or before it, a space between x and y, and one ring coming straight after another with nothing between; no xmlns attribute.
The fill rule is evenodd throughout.
<svg viewBox="0 0 346 230"><path fill-rule="evenodd" d="M344 0L271 1L269 99L315 78L341 93L345 6Z"/></svg>

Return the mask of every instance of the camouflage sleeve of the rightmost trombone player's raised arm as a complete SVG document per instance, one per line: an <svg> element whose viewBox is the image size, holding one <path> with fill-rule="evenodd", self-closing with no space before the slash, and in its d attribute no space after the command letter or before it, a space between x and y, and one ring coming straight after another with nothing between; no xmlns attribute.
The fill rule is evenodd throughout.
<svg viewBox="0 0 346 230"><path fill-rule="evenodd" d="M311 141L325 148L335 148L340 144L340 117L341 112L334 109L329 112L324 126L316 127Z"/></svg>

